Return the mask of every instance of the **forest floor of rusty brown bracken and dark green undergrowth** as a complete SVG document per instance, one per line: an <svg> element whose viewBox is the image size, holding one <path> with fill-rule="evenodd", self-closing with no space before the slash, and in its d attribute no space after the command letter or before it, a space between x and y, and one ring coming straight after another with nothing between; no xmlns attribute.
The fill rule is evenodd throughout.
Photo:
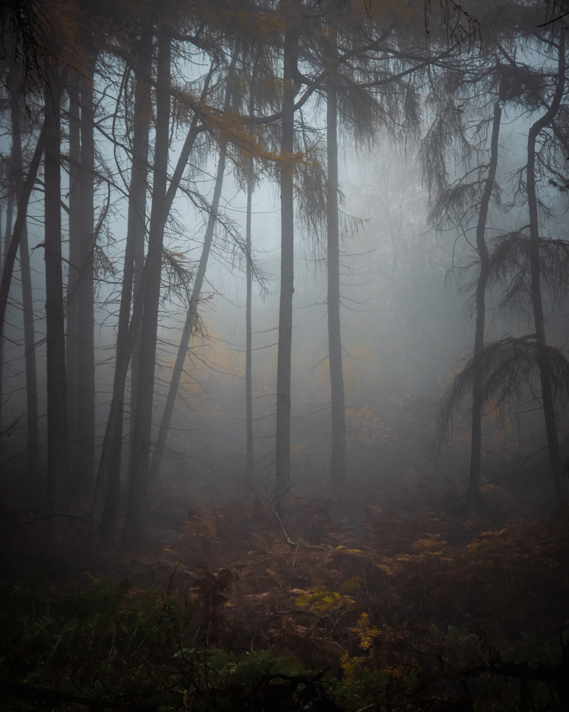
<svg viewBox="0 0 569 712"><path fill-rule="evenodd" d="M569 709L568 513L162 494L136 548L5 506L3 709Z"/></svg>

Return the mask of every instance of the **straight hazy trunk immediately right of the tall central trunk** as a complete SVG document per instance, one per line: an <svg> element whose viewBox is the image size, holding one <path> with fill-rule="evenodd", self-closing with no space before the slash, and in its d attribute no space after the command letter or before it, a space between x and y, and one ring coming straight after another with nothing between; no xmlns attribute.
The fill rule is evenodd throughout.
<svg viewBox="0 0 569 712"><path fill-rule="evenodd" d="M328 349L331 392L331 491L338 493L346 479L346 414L340 325L340 250L338 229L338 137L336 92L326 93L326 229L328 266Z"/></svg>

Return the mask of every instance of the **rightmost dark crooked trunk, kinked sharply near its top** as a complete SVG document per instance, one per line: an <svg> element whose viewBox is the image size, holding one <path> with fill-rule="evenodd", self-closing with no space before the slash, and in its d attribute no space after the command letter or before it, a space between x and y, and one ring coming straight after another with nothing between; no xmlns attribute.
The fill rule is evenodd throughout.
<svg viewBox="0 0 569 712"><path fill-rule="evenodd" d="M549 451L549 464L555 481L555 493L560 505L565 503L567 488L562 473L560 472L560 452L557 423L555 422L555 405L553 390L551 388L551 365L546 350L546 325L543 317L543 303L541 300L541 268L539 259L539 218L536 199L536 139L539 132L548 126L558 111L563 91L565 90L565 32L563 28L559 33L559 70L555 93L551 105L528 132L528 167L527 167L527 192L529 212L529 257L531 271L531 305L533 320L536 328L536 341L538 346L538 366L541 381L541 399L543 404L543 418L546 423L547 446Z"/></svg>

